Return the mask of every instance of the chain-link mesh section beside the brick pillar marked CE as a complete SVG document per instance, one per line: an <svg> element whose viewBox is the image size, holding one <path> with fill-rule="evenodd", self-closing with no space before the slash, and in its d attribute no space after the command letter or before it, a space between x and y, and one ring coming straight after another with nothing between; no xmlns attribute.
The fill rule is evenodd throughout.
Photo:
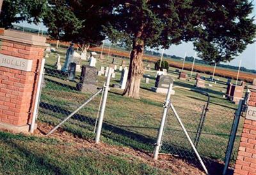
<svg viewBox="0 0 256 175"><path fill-rule="evenodd" d="M209 103L207 106L207 96L197 93L198 97L195 99L189 94L196 92L182 91L187 96L180 101L180 97L174 95L171 98L172 103L198 153L208 166L216 161L223 162L236 109L221 106L218 103ZM239 133L241 131L238 131L237 135ZM236 139L234 150L237 149L238 144L239 139ZM161 153L168 153L198 163L196 155L172 110L169 110L166 119Z"/></svg>

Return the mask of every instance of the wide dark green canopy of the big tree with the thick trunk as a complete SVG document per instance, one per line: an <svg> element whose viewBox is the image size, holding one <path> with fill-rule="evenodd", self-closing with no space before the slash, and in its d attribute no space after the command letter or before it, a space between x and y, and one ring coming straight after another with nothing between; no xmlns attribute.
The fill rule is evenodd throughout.
<svg viewBox="0 0 256 175"><path fill-rule="evenodd" d="M113 10L108 26L113 41L130 46L140 38L147 47L164 49L193 42L209 62L234 59L255 38L253 4L247 0L116 1Z"/></svg>

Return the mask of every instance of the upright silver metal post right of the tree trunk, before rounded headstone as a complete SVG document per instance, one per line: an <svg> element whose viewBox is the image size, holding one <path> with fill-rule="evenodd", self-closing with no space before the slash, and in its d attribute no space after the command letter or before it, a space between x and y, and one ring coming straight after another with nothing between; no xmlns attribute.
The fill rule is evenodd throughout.
<svg viewBox="0 0 256 175"><path fill-rule="evenodd" d="M164 101L163 116L162 116L162 119L161 119L161 124L160 124L159 131L158 131L158 134L157 134L157 142L156 142L156 146L155 146L155 150L154 150L154 160L157 160L158 154L159 154L159 149L161 147L161 141L162 141L163 132L164 132L164 124L165 124L165 121L166 121L166 116L167 116L168 107L169 107L170 98L171 98L172 86L173 86L173 79L172 79L172 82L169 85L168 93L167 93L166 99Z"/></svg>

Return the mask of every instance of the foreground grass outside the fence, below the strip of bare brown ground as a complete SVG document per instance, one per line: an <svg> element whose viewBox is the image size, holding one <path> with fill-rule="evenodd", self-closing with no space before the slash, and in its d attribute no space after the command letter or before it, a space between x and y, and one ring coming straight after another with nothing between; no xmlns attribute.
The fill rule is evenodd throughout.
<svg viewBox="0 0 256 175"><path fill-rule="evenodd" d="M129 161L127 156L104 155L76 144L0 132L0 174L170 174Z"/></svg>

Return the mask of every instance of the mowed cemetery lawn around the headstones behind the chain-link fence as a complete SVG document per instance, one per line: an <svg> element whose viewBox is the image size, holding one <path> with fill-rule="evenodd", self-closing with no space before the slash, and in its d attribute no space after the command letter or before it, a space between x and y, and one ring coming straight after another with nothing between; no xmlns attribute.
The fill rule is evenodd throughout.
<svg viewBox="0 0 256 175"><path fill-rule="evenodd" d="M64 55L62 56L61 63L63 65L65 59ZM90 96L90 94L76 91L79 73L77 73L76 82L67 82L65 80L66 75L61 75L56 70L52 70L56 60L55 57L54 54L50 55L46 62L46 67L51 71L45 76L46 88L42 91L42 105L39 117L40 121L50 123L51 125L57 125L61 119L68 116L72 110L76 109ZM97 59L97 61L97 69L99 70L100 66L109 65L112 57L104 60ZM122 59L116 58L115 61L117 65L120 65ZM127 59L125 61L128 65ZM87 65L88 62L82 61L82 64ZM149 64L153 67L152 63ZM145 63L146 65L148 63ZM190 72L186 72L190 75ZM151 76L150 83L145 84L145 81L141 80L140 100L125 98L122 96L120 89L111 88L102 127L101 139L103 142L128 146L151 153L154 150L165 95L150 91L150 88L154 86L156 72L145 70L145 73ZM190 82L178 80L178 73L175 72L174 68L170 68L169 74L175 79L175 86L195 89L195 80L192 79ZM196 73L193 73L193 77L195 75ZM106 77L97 77L97 79L97 85L102 87ZM209 111L205 117L204 127L202 128L197 147L200 154L204 156L205 161L209 159L224 160L234 112L237 107L222 97L225 88L227 88L225 84L227 80L221 77L216 77L216 79L219 79L217 84L212 84L212 87L210 87L209 84L211 82L206 81L206 88L200 89L209 93L210 96ZM119 80L120 72L116 70L116 77L111 80L111 84L118 84ZM207 97L184 89L175 89L175 91L175 95L172 96L173 105L177 109L191 139L194 141ZM79 111L74 118L64 123L62 128L79 137L94 139L95 134L92 131L97 118L99 102L100 96ZM238 135L239 133L241 133L241 128L239 128ZM238 140L239 137L237 137L235 151L237 150ZM161 151L163 153L191 157L196 160L184 132L182 132L177 119L175 119L171 111L168 115ZM234 156L236 156L236 152Z"/></svg>

